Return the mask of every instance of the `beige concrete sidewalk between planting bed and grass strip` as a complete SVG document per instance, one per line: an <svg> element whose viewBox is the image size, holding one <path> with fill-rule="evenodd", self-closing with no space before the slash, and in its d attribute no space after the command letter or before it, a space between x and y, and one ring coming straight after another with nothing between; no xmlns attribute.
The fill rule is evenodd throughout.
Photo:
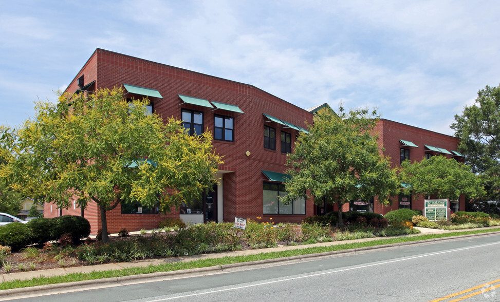
<svg viewBox="0 0 500 302"><path fill-rule="evenodd" d="M435 230L435 229L425 229L425 228L416 228L422 232L422 234L442 234L442 233L452 233L452 232L464 232L464 231L473 231L473 230L488 230L488 229L498 229L498 226L492 226L490 228L480 228L480 229L468 229L468 230L454 230L454 231L443 231L443 230ZM477 235L484 235L484 234L494 234L494 233L500 233L500 232L493 232L493 233L482 233L482 234L477 234ZM414 234L414 235L405 235L405 236L397 236L397 237L406 237L406 236L418 236L421 234ZM465 236L472 236L472 235L465 235ZM461 236L460 236L461 237ZM209 258L223 258L223 257L234 257L234 256L246 256L246 255L256 255L256 254L261 254L261 253L271 253L271 252L279 252L279 251L287 251L287 250L299 250L299 249L307 249L311 247L325 247L325 246L335 246L338 244L346 244L346 243L353 243L353 242L366 242L366 241L373 241L373 240L380 240L383 239L384 237L376 237L376 238L364 238L364 239L356 239L356 240L345 240L345 241L332 241L332 242L322 242L322 243L314 243L314 244L304 244L301 246L286 246L286 247L277 247L277 248L268 248L268 249L259 249L259 250L246 250L246 251L234 251L234 252L225 252L225 253L213 253L213 254L203 254L203 255L194 255L194 256L186 256L186 257L170 257L170 258L162 258L162 259L146 259L146 260L137 260L137 261L132 261L132 262L120 262L120 263L106 263L102 265L92 265L92 266L82 266L82 267L70 267L70 268L59 268L59 269L51 269L51 270L40 270L40 271L30 271L30 272L20 272L20 273L11 273L11 274L2 274L0 275L0 282L5 282L5 281L12 281L12 280L29 280L35 277L51 277L51 276L62 276L66 274L71 274L71 273L90 273L93 271L108 271L108 270L121 270L125 268L134 268L134 267L147 267L150 265L161 265L165 263L173 263L173 262L187 262L187 261L194 261L198 259L209 259ZM451 237L451 238L456 238L456 237ZM425 241L435 241L435 240L446 240L450 239L450 237L447 238L438 238L438 239L429 239L429 240L422 240L423 242ZM422 242L422 241L412 241L412 242L405 242L406 244L415 244L417 242ZM396 245L401 245L405 243L398 243ZM386 246L378 246L378 247L370 247L370 248L363 248L363 249L377 249L377 248L383 248ZM362 250L362 249L356 249L356 250ZM349 250L346 250L349 251ZM342 252L342 251L339 251ZM345 252L345 251L344 251ZM334 252L328 252L328 253L334 253ZM325 253L321 253L323 255ZM309 256L311 257L311 256ZM278 260L274 260L278 261ZM258 262L258 261L256 261ZM173 272L175 273L175 272ZM144 277L147 277L144 275Z"/></svg>

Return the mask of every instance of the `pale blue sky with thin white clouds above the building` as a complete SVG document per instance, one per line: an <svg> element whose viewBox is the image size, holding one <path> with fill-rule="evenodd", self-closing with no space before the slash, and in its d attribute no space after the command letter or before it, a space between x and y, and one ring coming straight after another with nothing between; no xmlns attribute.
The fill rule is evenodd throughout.
<svg viewBox="0 0 500 302"><path fill-rule="evenodd" d="M500 83L499 15L497 1L12 1L0 124L55 102L103 48L453 135L454 115Z"/></svg>

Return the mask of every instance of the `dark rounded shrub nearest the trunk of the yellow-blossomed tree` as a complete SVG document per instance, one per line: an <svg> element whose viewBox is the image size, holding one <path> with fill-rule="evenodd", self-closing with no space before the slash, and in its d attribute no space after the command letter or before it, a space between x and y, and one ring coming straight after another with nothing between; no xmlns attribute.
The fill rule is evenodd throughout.
<svg viewBox="0 0 500 302"><path fill-rule="evenodd" d="M80 239L90 234L90 223L81 216L64 215L52 219L55 221L55 238L59 239L63 234L69 233L73 244L79 244Z"/></svg>

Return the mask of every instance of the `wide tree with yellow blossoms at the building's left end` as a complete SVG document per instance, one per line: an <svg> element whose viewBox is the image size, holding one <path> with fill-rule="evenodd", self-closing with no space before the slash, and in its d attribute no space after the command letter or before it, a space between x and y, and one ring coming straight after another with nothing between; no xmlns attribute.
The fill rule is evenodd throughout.
<svg viewBox="0 0 500 302"><path fill-rule="evenodd" d="M38 103L36 116L16 130L3 129L12 160L0 171L14 188L45 196L59 207L106 212L139 201L170 211L211 190L221 163L209 132L190 136L173 118L165 124L147 114L145 101L127 103L122 89L61 96L57 105Z"/></svg>

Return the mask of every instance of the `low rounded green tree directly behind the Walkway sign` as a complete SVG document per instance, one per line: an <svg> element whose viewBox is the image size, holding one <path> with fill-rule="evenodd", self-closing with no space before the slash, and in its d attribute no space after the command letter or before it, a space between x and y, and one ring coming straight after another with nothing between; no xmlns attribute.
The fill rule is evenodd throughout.
<svg viewBox="0 0 500 302"><path fill-rule="evenodd" d="M484 194L477 175L470 166L444 156L433 156L420 162L405 160L401 163L402 182L411 185L409 193L414 196L434 195L438 198L457 200L464 194L475 198Z"/></svg>

